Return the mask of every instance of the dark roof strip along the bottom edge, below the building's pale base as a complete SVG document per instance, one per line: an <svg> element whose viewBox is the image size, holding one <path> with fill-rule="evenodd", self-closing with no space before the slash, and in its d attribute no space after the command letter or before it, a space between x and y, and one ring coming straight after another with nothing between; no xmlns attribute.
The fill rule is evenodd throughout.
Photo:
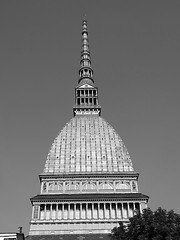
<svg viewBox="0 0 180 240"><path fill-rule="evenodd" d="M26 240L110 240L109 234L29 235Z"/></svg>

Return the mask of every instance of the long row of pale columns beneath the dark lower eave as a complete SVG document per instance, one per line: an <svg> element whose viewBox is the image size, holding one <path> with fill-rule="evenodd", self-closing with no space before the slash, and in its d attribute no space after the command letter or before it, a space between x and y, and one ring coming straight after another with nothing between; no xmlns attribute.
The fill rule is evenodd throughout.
<svg viewBox="0 0 180 240"><path fill-rule="evenodd" d="M41 204L34 206L33 218L40 220L124 219L133 217L135 211L140 211L138 202Z"/></svg>

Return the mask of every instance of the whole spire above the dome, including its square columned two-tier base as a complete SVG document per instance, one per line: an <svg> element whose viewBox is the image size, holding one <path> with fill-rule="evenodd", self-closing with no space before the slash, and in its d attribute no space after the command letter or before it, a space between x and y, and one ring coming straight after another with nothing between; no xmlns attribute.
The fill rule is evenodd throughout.
<svg viewBox="0 0 180 240"><path fill-rule="evenodd" d="M94 85L91 55L89 50L87 21L84 16L82 22L82 46L79 69L78 86L75 89L74 116L100 115L101 107L98 103L98 88Z"/></svg>

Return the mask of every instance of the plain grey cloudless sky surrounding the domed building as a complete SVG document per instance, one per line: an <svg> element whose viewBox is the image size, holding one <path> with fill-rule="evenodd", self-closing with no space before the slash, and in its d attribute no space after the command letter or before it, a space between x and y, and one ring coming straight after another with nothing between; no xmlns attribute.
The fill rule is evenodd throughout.
<svg viewBox="0 0 180 240"><path fill-rule="evenodd" d="M180 213L180 1L0 1L0 232L28 233L48 150L72 117L87 15L102 117L149 207Z"/></svg>

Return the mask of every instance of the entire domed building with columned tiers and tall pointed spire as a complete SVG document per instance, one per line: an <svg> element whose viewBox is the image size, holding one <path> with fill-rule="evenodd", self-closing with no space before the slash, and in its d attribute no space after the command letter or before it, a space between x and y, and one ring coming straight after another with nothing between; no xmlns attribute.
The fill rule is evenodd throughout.
<svg viewBox="0 0 180 240"><path fill-rule="evenodd" d="M73 115L50 148L40 194L31 198L30 239L109 233L147 207L127 148L101 117L85 19Z"/></svg>

